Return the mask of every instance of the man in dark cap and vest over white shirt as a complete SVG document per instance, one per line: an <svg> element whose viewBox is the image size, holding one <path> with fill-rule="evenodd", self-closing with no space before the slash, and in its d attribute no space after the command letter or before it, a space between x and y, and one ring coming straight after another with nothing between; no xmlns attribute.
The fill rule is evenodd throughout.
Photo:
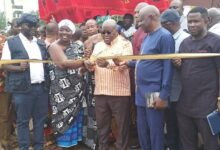
<svg viewBox="0 0 220 150"><path fill-rule="evenodd" d="M2 52L2 60L47 59L43 42L35 37L38 19L31 14L20 18L21 33L8 39ZM35 150L43 149L44 120L48 111L48 90L46 89L47 65L42 63L20 63L4 65L7 71L5 89L12 94L17 116L19 149L30 146L29 120L33 118Z"/></svg>

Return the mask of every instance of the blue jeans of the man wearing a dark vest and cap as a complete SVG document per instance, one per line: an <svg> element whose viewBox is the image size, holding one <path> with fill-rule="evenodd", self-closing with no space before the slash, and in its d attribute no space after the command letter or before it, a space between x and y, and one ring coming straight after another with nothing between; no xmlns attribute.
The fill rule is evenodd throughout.
<svg viewBox="0 0 220 150"><path fill-rule="evenodd" d="M44 121L48 113L48 91L43 84L32 85L28 93L14 93L13 104L17 115L19 150L29 150L29 121L33 118L34 150L43 150Z"/></svg>

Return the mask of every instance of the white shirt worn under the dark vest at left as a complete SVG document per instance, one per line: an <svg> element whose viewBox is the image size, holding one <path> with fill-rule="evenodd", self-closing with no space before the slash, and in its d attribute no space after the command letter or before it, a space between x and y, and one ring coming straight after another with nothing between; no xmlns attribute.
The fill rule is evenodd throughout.
<svg viewBox="0 0 220 150"><path fill-rule="evenodd" d="M28 40L22 33L19 34L19 38L27 51L29 59L42 60L42 55L39 46L37 45L37 39ZM11 52L8 47L8 43L5 42L2 51L2 60L11 60ZM31 83L42 83L44 81L44 67L42 63L30 63L30 78Z"/></svg>

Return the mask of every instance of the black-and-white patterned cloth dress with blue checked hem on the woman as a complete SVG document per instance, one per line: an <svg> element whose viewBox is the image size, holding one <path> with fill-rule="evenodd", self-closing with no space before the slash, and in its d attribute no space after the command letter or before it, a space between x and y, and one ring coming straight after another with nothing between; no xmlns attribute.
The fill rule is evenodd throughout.
<svg viewBox="0 0 220 150"><path fill-rule="evenodd" d="M68 59L80 59L83 51L73 43L64 53ZM50 103L52 127L60 147L72 147L82 140L85 83L80 69L60 69L54 64L50 69Z"/></svg>

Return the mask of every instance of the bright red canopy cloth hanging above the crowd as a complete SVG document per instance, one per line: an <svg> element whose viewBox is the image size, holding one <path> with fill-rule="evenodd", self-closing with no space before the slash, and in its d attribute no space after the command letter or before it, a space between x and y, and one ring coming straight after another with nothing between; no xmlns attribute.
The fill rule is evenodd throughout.
<svg viewBox="0 0 220 150"><path fill-rule="evenodd" d="M133 13L139 2L155 5L160 11L169 5L169 0L38 0L41 19L55 18L59 22L65 18L75 23L94 16Z"/></svg>

